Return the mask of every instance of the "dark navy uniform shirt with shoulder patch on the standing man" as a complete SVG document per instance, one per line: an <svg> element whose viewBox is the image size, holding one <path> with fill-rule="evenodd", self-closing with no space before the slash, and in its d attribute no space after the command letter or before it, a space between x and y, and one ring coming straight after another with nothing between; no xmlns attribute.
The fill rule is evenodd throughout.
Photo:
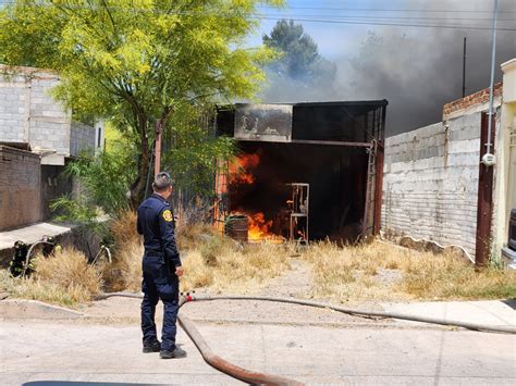
<svg viewBox="0 0 516 386"><path fill-rule="evenodd" d="M153 194L138 208L136 221L138 234L144 235L145 252L149 256L164 253L164 258L181 266L180 253L175 246L175 222L170 203Z"/></svg>

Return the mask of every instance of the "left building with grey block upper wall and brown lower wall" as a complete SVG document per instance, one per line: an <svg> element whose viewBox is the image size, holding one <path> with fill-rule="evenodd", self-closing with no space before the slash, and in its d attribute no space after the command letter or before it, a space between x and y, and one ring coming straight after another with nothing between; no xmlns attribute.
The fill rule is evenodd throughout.
<svg viewBox="0 0 516 386"><path fill-rule="evenodd" d="M84 124L52 97L59 75L0 65L0 231L48 220L70 192L60 178L81 151L103 148L103 122Z"/></svg>

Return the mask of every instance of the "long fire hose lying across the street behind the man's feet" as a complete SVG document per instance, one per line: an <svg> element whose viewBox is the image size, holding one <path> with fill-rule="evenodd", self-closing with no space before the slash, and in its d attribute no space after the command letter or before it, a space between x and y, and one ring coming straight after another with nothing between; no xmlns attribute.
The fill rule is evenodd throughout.
<svg viewBox="0 0 516 386"><path fill-rule="evenodd" d="M101 294L97 297L97 299L108 299L111 297L125 297L125 298L136 298L142 299L143 295L140 294L131 294L131 292L111 292L111 294ZM277 297L256 297L256 296L209 296L209 295L185 295L182 296L180 299L180 308L183 307L185 303L191 301L214 301L214 300L259 300L259 301L272 301L272 302L281 302L281 303L291 303L291 304L299 304L299 306L307 306L307 307L315 307L315 308L322 308L328 310L333 310L351 315L357 316L366 316L366 317L389 317L389 319L398 319L405 321L413 321L413 322L421 322L421 323L430 323L430 324L439 324L445 326L453 326L453 327L463 327L467 329L478 331L478 332L487 332L487 333L502 333L502 334L516 334L516 326L489 326L478 323L468 323L468 322L460 322L460 321L447 321L438 317L427 317L427 316L418 316L418 315L409 315L404 313L397 312L382 312L382 311L363 311L356 309L349 309L344 307L332 306L322 302L309 301L309 300L300 300L300 299L291 299L291 298L277 298ZM258 373L255 371L249 371L243 368L239 368L226 360L222 359L221 357L214 354L209 346L204 340L202 336L199 334L197 328L195 327L194 323L189 320L189 317L179 314L177 320L180 325L183 327L185 333L192 339L194 345L199 350L200 354L205 359L205 361L211 365L212 368L228 374L236 379L249 383L249 384L265 384L265 385L302 385L297 381L293 381L290 378L280 377L272 374L267 373Z"/></svg>

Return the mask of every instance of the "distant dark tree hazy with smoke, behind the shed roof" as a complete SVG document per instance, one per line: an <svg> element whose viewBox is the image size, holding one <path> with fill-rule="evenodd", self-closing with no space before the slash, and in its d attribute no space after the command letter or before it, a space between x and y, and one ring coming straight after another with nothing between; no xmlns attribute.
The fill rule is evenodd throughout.
<svg viewBox="0 0 516 386"><path fill-rule="evenodd" d="M278 61L268 66L273 82L294 80L297 89L317 84L323 86L325 92L332 87L336 66L319 54L317 43L304 32L303 25L281 20L270 35L263 35L262 40L267 47L282 53Z"/></svg>

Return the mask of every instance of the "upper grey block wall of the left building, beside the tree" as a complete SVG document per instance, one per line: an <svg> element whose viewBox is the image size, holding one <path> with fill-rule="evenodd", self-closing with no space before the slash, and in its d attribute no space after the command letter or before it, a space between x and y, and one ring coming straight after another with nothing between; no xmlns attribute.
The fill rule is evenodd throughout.
<svg viewBox="0 0 516 386"><path fill-rule="evenodd" d="M28 142L42 154L42 164L64 165L82 149L95 149L96 128L72 122L70 111L56 101L57 74L32 67L9 69L0 75L0 141ZM100 123L103 128L103 123Z"/></svg>

